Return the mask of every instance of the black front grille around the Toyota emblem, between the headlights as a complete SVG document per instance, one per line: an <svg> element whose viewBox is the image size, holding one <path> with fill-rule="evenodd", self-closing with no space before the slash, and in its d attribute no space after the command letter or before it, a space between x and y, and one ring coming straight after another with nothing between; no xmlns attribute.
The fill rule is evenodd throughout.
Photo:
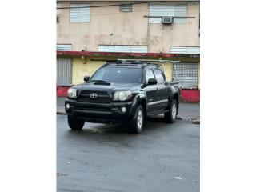
<svg viewBox="0 0 256 192"><path fill-rule="evenodd" d="M97 94L97 98L90 98L90 94ZM106 91L82 90L78 95L78 102L109 103L110 96Z"/></svg>

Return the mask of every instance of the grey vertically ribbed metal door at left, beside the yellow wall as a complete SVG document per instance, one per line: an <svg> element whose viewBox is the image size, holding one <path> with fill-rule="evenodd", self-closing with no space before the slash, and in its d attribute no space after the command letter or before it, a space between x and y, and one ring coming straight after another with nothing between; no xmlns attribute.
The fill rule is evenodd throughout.
<svg viewBox="0 0 256 192"><path fill-rule="evenodd" d="M71 58L57 58L57 86L70 86L71 79Z"/></svg>

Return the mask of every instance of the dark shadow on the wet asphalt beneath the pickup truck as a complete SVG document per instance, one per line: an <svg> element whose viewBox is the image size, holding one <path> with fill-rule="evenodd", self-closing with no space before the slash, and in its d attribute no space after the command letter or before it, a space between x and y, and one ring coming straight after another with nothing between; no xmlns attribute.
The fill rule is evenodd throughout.
<svg viewBox="0 0 256 192"><path fill-rule="evenodd" d="M158 138L166 137L166 135L169 135L170 138L173 137L170 132L180 126L179 121L169 124L161 117L149 118L147 121L142 134L133 134L130 127L124 124L106 125L87 122L81 131L68 130L65 137L78 145L94 142L98 146L147 147L149 143L158 140ZM147 144L143 144L142 141L146 141Z"/></svg>

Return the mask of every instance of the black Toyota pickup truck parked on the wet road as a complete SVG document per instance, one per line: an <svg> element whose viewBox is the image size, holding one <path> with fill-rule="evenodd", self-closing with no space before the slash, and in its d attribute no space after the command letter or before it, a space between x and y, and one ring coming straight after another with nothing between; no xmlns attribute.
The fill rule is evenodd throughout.
<svg viewBox="0 0 256 192"><path fill-rule="evenodd" d="M65 110L72 130L85 122L126 123L135 134L146 126L146 118L164 114L175 122L180 102L178 82L167 82L158 64L107 62L85 83L67 92Z"/></svg>

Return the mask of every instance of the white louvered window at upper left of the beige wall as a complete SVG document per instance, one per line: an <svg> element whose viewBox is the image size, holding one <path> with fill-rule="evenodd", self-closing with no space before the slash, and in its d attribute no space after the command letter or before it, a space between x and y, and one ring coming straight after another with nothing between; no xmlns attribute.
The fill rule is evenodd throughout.
<svg viewBox="0 0 256 192"><path fill-rule="evenodd" d="M90 22L90 4L70 4L70 22Z"/></svg>

